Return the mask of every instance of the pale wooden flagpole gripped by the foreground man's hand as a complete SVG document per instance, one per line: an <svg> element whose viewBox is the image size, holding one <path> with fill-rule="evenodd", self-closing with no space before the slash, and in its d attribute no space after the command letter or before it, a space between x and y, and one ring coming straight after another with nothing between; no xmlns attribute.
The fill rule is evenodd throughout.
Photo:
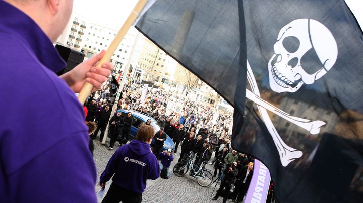
<svg viewBox="0 0 363 203"><path fill-rule="evenodd" d="M124 25L120 28L118 33L116 34L115 38L109 45L108 49L106 50L105 55L102 57L102 59L98 62L97 68L100 68L101 65L107 61L109 61L113 55L113 53L116 51L118 45L121 43L121 41L124 39L127 31L130 29L132 24L135 22L135 20L138 18L139 14L143 10L147 3L147 0L139 0L138 3L135 5L134 9L130 13L129 17L126 19ZM86 101L89 93L91 93L93 89L93 85L86 82L86 84L82 87L79 95L78 100L81 104L84 104Z"/></svg>

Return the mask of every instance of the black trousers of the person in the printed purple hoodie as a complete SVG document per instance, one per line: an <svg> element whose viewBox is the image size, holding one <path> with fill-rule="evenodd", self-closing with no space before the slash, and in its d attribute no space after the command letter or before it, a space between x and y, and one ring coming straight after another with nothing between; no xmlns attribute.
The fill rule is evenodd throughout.
<svg viewBox="0 0 363 203"><path fill-rule="evenodd" d="M123 203L140 203L141 200L142 194L129 191L112 183L102 203L119 203L120 201Z"/></svg>

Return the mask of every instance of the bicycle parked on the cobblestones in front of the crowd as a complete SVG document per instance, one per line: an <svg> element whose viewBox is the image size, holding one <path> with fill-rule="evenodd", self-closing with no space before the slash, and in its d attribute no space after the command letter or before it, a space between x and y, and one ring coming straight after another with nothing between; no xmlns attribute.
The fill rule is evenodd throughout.
<svg viewBox="0 0 363 203"><path fill-rule="evenodd" d="M191 169L190 175L194 178L197 178L197 183L202 187L208 187L213 182L213 175L207 169L204 169L204 166L208 163L207 161L203 161L203 163L199 166L194 165L193 158L196 155L193 152L190 152L190 155L186 161L180 161L179 163L175 164L173 168L173 173L175 176L181 177L185 175L189 168ZM194 171L197 169L197 171Z"/></svg>

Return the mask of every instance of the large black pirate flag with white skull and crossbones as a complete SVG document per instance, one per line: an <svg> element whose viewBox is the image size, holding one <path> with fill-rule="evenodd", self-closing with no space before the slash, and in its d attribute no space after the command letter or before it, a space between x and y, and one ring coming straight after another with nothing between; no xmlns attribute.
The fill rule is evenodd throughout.
<svg viewBox="0 0 363 203"><path fill-rule="evenodd" d="M343 0L158 0L137 28L234 106L232 147L279 202L360 201L363 34Z"/></svg>

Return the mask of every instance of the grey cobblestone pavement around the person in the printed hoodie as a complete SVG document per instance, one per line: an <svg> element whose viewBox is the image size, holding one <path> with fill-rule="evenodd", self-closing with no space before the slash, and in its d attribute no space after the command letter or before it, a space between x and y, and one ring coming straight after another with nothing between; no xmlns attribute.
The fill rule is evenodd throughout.
<svg viewBox="0 0 363 203"><path fill-rule="evenodd" d="M97 137L94 142L94 159L97 167L97 182L103 170L106 168L108 160L113 153L118 149L118 142L115 143L115 147L112 151L108 151L109 139L107 138L106 145L102 145L98 141ZM211 198L212 191L215 184L209 189L207 187L201 187L198 185L195 178L189 177L188 173L183 177L177 177L173 174L173 166L177 163L179 154L174 156L174 161L170 166L170 178L157 180L148 180L147 188L143 193L142 202L222 202L223 198L219 197L217 201L213 201ZM207 169L213 171L212 165L207 165ZM107 182L106 190L108 190L111 181ZM99 186L96 185L96 191L99 190ZM215 188L213 195L215 195L219 186ZM99 199L100 202L100 199Z"/></svg>

